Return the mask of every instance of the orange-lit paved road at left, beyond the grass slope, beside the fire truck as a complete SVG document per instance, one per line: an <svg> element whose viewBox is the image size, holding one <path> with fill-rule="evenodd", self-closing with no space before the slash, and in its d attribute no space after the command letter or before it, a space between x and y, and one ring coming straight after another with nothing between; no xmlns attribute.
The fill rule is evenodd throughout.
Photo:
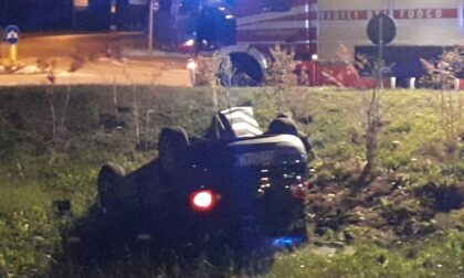
<svg viewBox="0 0 464 278"><path fill-rule="evenodd" d="M187 56L160 52L139 56L147 54L144 45L144 36L137 33L27 36L18 45L20 71L0 74L0 85L46 84L38 60L54 60L57 84L191 86ZM0 47L3 64L9 64L8 47L4 43ZM71 73L71 64L76 61L81 61L80 68Z"/></svg>

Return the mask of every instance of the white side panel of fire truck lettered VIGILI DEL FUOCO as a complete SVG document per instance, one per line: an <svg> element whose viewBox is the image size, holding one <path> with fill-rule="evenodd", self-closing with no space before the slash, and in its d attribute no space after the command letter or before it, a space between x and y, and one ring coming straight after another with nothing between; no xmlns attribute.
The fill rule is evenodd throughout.
<svg viewBox="0 0 464 278"><path fill-rule="evenodd" d="M352 58L356 45L372 45L367 24L380 11L397 23L391 45L463 44L463 0L319 0L318 55L337 60L339 45L344 45Z"/></svg>

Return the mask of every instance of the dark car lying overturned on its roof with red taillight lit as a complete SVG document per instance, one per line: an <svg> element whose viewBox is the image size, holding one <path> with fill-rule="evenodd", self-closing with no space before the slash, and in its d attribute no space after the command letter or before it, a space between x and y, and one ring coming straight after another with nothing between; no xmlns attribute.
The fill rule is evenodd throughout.
<svg viewBox="0 0 464 278"><path fill-rule="evenodd" d="M116 229L157 246L306 240L309 141L287 117L261 132L251 107L218 113L205 138L166 128L159 158L125 174L98 175L98 197Z"/></svg>

